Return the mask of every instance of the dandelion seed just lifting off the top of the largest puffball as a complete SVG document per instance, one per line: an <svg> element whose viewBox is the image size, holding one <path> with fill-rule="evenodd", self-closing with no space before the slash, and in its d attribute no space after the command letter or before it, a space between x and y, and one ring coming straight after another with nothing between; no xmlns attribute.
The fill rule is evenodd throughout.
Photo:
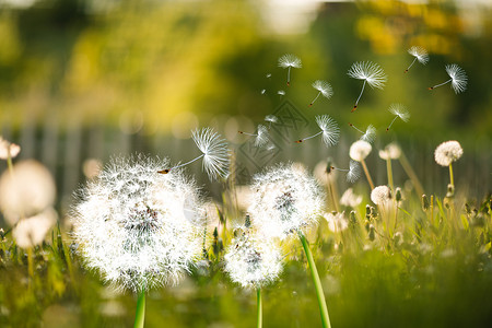
<svg viewBox="0 0 492 328"><path fill-rule="evenodd" d="M203 168L211 180L218 179L218 177L226 178L229 175L230 159L225 140L211 128L196 129L191 134L195 144L202 154L189 162L161 169L157 173L167 174L172 169L186 166L203 157Z"/></svg>

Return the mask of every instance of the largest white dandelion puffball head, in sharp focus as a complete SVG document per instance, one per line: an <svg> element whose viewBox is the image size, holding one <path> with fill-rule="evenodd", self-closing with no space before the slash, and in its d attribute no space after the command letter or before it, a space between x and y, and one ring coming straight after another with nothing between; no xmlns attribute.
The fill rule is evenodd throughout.
<svg viewBox="0 0 492 328"><path fill-rule="evenodd" d="M80 190L73 237L89 269L119 289L141 292L177 283L201 255L204 207L167 160L113 159Z"/></svg>

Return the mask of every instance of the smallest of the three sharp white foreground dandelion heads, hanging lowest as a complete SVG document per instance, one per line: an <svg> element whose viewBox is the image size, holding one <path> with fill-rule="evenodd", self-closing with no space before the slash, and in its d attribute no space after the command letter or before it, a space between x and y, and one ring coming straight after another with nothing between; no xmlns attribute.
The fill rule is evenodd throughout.
<svg viewBox="0 0 492 328"><path fill-rule="evenodd" d="M245 289L258 289L274 282L282 272L280 248L271 241L241 234L227 247L225 271Z"/></svg>

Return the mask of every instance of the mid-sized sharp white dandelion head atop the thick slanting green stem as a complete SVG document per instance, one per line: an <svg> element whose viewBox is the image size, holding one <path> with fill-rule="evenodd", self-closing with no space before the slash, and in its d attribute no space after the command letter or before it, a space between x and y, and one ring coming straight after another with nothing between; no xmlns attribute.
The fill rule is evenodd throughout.
<svg viewBox="0 0 492 328"><path fill-rule="evenodd" d="M260 234L281 239L317 222L324 195L300 166L282 164L254 177L248 209Z"/></svg>

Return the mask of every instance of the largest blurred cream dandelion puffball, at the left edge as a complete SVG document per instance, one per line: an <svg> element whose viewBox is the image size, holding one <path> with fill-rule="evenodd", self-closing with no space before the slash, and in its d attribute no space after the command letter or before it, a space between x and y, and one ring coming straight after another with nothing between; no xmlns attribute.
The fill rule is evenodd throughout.
<svg viewBox="0 0 492 328"><path fill-rule="evenodd" d="M27 160L13 166L13 175L0 177L0 209L10 225L51 207L56 198L55 180L39 162Z"/></svg>

